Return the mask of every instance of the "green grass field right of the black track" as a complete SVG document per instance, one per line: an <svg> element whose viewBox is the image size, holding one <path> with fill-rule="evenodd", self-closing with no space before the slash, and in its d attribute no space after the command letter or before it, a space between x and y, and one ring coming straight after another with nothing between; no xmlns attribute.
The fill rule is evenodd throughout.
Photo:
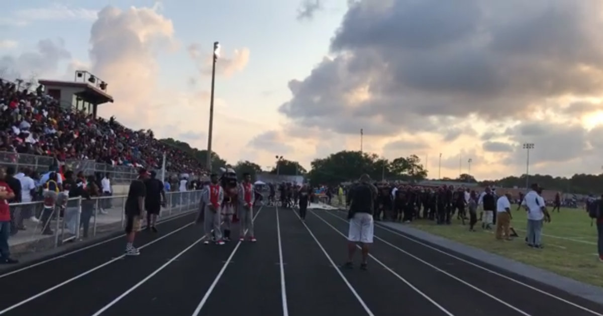
<svg viewBox="0 0 603 316"><path fill-rule="evenodd" d="M333 199L333 205L336 206L336 199ZM496 240L494 230L482 230L481 223L476 224L476 232L469 232L469 226L463 226L456 216L452 225L435 225L435 222L428 220L416 220L411 225L434 235L603 287L603 262L598 260L597 229L596 225L590 225L586 211L562 208L561 212L555 212L551 217L551 223L545 223L543 228L544 249L526 246L526 212L522 209L513 211L511 226L519 234L519 238L513 241Z"/></svg>

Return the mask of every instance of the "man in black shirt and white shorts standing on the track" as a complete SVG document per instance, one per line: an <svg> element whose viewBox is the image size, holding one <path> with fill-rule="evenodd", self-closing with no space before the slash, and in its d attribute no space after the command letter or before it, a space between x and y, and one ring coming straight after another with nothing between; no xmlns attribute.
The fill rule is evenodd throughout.
<svg viewBox="0 0 603 316"><path fill-rule="evenodd" d="M356 253L356 243L362 247L362 263L360 268L367 270L368 245L373 243L373 211L374 200L377 198L377 188L372 185L368 175L362 175L358 184L353 185L347 196L346 205L350 205L346 268L353 268L353 258Z"/></svg>

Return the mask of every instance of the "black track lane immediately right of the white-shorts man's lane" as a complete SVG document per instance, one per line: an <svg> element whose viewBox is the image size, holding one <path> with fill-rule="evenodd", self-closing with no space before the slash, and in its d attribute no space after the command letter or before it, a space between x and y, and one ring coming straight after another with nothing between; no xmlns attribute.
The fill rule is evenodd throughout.
<svg viewBox="0 0 603 316"><path fill-rule="evenodd" d="M325 222L337 229L341 234L347 234L349 224L339 218L328 215L329 211L312 211L313 215L322 218ZM378 237L378 235L377 235ZM517 311L504 303L497 302L496 293L489 297L468 287L467 285L447 276L441 271L423 264L402 252L392 249L379 238L374 238L370 252L380 261L387 264L400 276L411 282L423 293L434 298L440 305L455 315L484 315L484 316L510 316L529 314ZM472 297L467 303L467 297Z"/></svg>

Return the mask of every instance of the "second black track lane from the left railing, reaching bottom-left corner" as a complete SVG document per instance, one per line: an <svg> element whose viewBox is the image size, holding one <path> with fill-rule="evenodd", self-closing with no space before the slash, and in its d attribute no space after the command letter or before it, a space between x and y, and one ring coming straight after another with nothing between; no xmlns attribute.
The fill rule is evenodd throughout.
<svg viewBox="0 0 603 316"><path fill-rule="evenodd" d="M140 235L147 234L151 235L153 233L142 232ZM170 232L165 234L170 234ZM139 256L117 259L111 264L84 274L24 305L17 306L8 311L7 314L91 315L113 300L116 293L119 295L139 280L144 279L145 276L177 255L178 252L200 238L201 235L197 229L194 229L194 225L186 226L180 231L171 232L168 237L141 249ZM140 245L136 241L135 244ZM113 257L121 256L123 250L124 244L118 245Z"/></svg>

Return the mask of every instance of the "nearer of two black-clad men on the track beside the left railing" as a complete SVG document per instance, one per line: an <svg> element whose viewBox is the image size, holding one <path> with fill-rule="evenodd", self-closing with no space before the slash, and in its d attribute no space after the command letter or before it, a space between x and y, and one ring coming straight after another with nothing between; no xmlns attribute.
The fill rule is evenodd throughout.
<svg viewBox="0 0 603 316"><path fill-rule="evenodd" d="M143 205L145 196L147 195L144 181L148 176L147 169L141 168L139 170L138 179L132 181L130 184L128 197L125 200L125 234L127 237L125 255L127 256L140 255L140 251L134 247L134 237L136 236L136 232L140 230L140 220L144 217Z"/></svg>

